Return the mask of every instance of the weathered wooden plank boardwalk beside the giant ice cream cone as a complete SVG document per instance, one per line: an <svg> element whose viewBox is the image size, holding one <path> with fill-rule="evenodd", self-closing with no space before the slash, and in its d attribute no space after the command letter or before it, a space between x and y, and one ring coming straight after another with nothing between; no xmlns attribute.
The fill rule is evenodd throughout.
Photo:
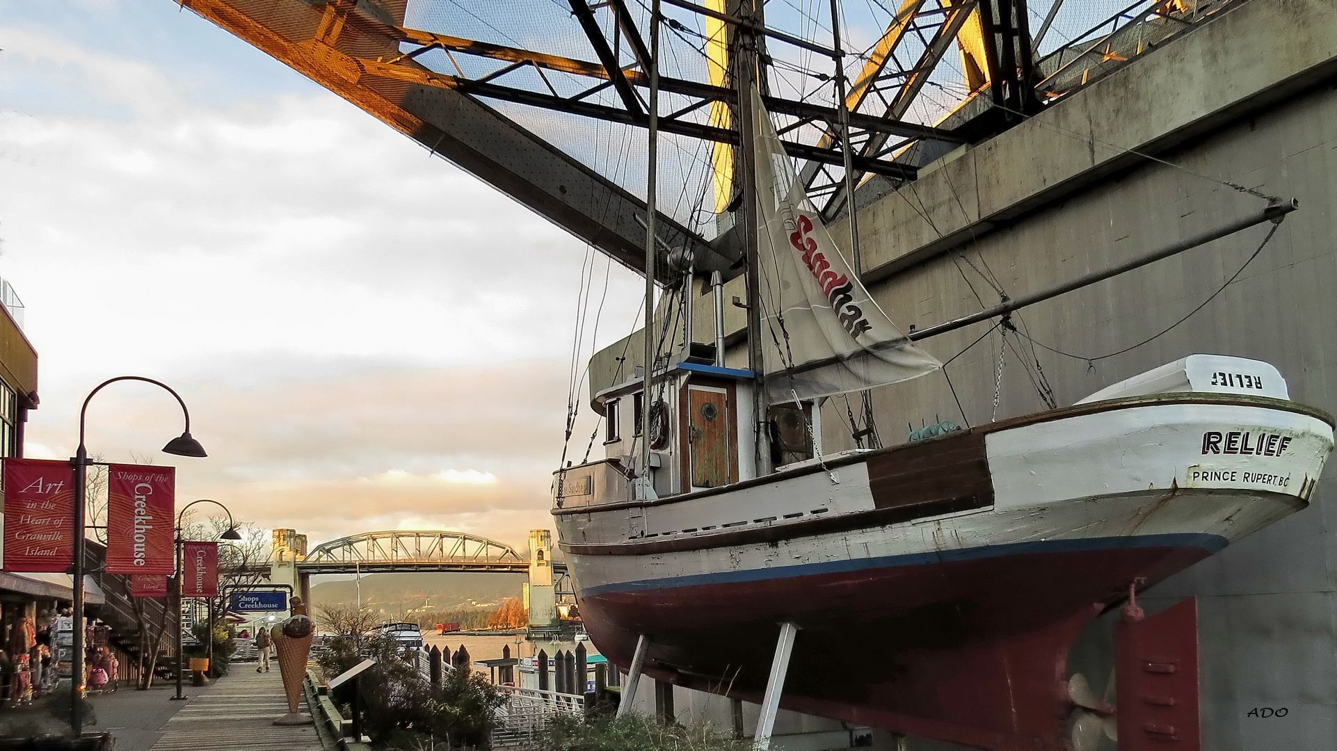
<svg viewBox="0 0 1337 751"><path fill-rule="evenodd" d="M312 726L279 727L287 712L278 671L257 673L245 664L198 694L167 724L151 751L320 751ZM309 712L302 702L303 712Z"/></svg>

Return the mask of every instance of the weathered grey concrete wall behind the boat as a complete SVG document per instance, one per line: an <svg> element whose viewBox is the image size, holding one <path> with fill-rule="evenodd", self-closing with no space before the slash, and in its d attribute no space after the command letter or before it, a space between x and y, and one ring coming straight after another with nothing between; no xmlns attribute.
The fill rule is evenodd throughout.
<svg viewBox="0 0 1337 751"><path fill-rule="evenodd" d="M1132 351L1088 362L995 333L952 361L945 377L881 389L874 401L884 441L901 442L910 425L940 418L979 424L1044 409L1036 362L1058 404L1067 405L1190 353L1253 357L1281 370L1292 398L1337 412L1334 61L1337 4L1254 0L1013 131L949 155L916 184L870 206L861 230L865 258L881 277L873 291L902 327L999 302L984 275L1017 295L1263 204L1194 172L1296 196L1302 206L1235 283ZM1114 156L1102 158L1102 146L1087 138L1140 146L1182 168L1135 156L1111 167ZM1027 309L1015 322L1035 341L1082 357L1120 350L1207 299L1266 233L1239 233ZM947 361L987 327L924 346ZM844 412L836 402L828 406ZM852 445L840 422L824 421L829 450ZM1310 508L1150 593L1152 611L1189 595L1201 599L1205 748L1337 746L1334 470L1337 462ZM1108 676L1102 639L1108 627L1094 627L1072 657L1098 691ZM1288 712L1250 716L1262 707ZM929 747L940 744L910 742Z"/></svg>

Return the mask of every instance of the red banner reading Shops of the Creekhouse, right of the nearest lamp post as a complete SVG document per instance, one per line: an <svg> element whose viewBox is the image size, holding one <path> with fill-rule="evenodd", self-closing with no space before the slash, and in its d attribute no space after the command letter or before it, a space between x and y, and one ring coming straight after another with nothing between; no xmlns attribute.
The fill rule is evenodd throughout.
<svg viewBox="0 0 1337 751"><path fill-rule="evenodd" d="M107 573L172 573L176 468L107 469Z"/></svg>

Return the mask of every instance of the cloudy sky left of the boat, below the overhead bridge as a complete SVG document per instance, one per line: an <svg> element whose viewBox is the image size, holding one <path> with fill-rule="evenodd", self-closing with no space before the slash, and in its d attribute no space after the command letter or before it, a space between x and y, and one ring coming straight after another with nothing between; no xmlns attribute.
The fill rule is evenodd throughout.
<svg viewBox="0 0 1337 751"><path fill-rule="evenodd" d="M210 457L156 453L179 410L138 384L96 397L90 452L313 544L551 527L582 278L598 346L643 291L171 0L0 0L0 277L40 357L29 456L74 453L98 382L158 378Z"/></svg>

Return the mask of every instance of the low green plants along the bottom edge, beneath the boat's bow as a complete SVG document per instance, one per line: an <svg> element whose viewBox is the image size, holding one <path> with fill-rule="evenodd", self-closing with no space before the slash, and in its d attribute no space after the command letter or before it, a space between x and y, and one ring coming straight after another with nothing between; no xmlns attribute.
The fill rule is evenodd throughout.
<svg viewBox="0 0 1337 751"><path fill-rule="evenodd" d="M663 726L635 712L615 716L554 718L539 738L540 751L750 751L746 740L695 723Z"/></svg>

